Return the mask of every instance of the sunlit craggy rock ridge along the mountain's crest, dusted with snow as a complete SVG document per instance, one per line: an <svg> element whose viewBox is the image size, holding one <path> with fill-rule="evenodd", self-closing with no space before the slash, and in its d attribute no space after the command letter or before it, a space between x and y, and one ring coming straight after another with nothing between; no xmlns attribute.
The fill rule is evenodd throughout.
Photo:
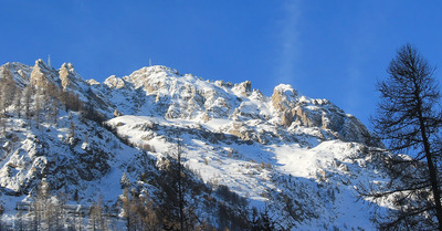
<svg viewBox="0 0 442 231"><path fill-rule="evenodd" d="M317 135L319 139L335 137L366 145L379 144L372 141L370 133L358 119L326 99L305 97L286 84L277 85L273 95L267 97L259 90L252 92L250 81L239 84L209 82L191 74L179 75L166 66L144 67L122 78L113 75L99 84L83 81L72 64L63 64L54 72L41 60L36 61L30 81L44 85L52 80L59 80L59 85L65 90L80 93L82 99L95 102L93 105L107 117L114 117L114 111L118 108L124 115L167 119L197 119L201 123L231 119L243 123L244 129L231 124L224 132L259 143L288 140L290 133L282 130L309 127L323 130Z"/></svg>

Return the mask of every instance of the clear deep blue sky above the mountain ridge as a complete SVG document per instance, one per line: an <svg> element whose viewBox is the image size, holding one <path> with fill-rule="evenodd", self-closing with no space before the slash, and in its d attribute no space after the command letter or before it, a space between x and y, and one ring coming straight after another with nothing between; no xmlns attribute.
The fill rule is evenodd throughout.
<svg viewBox="0 0 442 231"><path fill-rule="evenodd" d="M152 64L271 95L278 83L327 98L368 124L396 50L442 66L440 1L7 1L0 63L74 64L104 81ZM442 72L435 72L440 80Z"/></svg>

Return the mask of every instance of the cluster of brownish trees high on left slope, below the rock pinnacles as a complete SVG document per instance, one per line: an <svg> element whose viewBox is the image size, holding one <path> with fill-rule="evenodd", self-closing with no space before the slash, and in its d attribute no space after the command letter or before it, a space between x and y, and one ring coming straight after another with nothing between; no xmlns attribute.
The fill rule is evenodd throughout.
<svg viewBox="0 0 442 231"><path fill-rule="evenodd" d="M23 86L21 82L15 82L8 66L0 67L0 132L3 134L12 117L24 116L36 127L42 123L56 124L63 106L66 112L81 112L83 118L103 122L104 116L91 104L86 107L78 94L63 90L59 83L48 81L43 85L28 83Z"/></svg>

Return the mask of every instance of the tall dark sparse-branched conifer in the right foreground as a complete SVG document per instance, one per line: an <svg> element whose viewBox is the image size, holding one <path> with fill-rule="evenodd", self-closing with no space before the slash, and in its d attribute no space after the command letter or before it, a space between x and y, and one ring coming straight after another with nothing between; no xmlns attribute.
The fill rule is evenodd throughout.
<svg viewBox="0 0 442 231"><path fill-rule="evenodd" d="M373 118L375 132L390 151L411 156L388 159L390 183L367 195L389 198L399 209L379 219L381 229L442 230L438 175L442 114L433 72L417 49L407 44L390 62L388 77L378 84L381 102Z"/></svg>

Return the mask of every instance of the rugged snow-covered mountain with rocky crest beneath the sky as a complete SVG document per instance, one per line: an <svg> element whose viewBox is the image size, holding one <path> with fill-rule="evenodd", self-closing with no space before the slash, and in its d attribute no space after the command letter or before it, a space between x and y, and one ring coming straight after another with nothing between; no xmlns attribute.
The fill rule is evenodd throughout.
<svg viewBox="0 0 442 231"><path fill-rule="evenodd" d="M206 81L159 65L99 83L72 64L55 70L41 60L7 63L0 80L13 80L20 98L4 104L0 136L3 220L10 223L42 179L54 193L69 195L69 204L102 196L122 210L115 204L125 175L128 187L159 206L160 181L168 180L161 166L177 154L177 140L191 182L206 187L191 189L188 200L198 201L200 221L218 229L244 229L221 218L223 206L251 220L253 208L269 211L286 230L373 230L373 211L388 207L357 192L388 180L373 158L382 144L352 115L290 85L266 96L250 81ZM224 188L243 204L217 193Z"/></svg>

